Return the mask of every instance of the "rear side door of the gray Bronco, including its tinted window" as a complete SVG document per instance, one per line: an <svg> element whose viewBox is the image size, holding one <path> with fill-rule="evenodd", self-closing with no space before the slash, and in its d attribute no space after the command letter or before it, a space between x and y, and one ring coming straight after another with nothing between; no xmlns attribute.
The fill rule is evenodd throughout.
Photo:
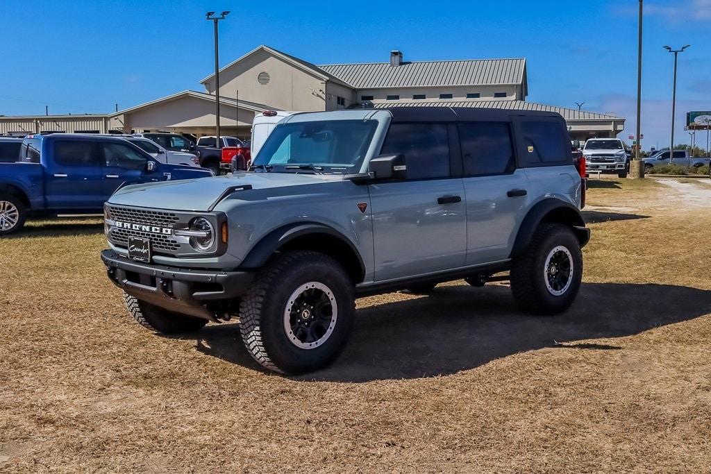
<svg viewBox="0 0 711 474"><path fill-rule="evenodd" d="M530 205L528 181L517 169L509 122L461 122L459 141L466 193L466 264L507 259Z"/></svg>

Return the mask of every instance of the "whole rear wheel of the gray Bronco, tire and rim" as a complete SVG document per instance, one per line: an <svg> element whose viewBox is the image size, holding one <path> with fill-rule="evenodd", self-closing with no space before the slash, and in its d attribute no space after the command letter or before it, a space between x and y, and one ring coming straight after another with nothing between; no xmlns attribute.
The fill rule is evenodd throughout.
<svg viewBox="0 0 711 474"><path fill-rule="evenodd" d="M529 313L565 311L577 296L581 281L580 242L566 225L540 225L511 267L513 297Z"/></svg>

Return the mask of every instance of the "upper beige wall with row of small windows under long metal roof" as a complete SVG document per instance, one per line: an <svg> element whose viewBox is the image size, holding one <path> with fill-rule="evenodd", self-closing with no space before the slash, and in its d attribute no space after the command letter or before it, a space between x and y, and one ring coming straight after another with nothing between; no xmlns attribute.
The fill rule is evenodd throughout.
<svg viewBox="0 0 711 474"><path fill-rule="evenodd" d="M477 85L467 87L387 87L385 89L360 89L357 100L372 95L374 100L385 100L388 95L400 95L401 101L412 101L412 96L424 94L426 99L439 99L440 94L451 94L447 100L467 100L466 95L479 92L481 100L523 100L521 88L518 85ZM494 97L496 92L506 92L506 97ZM476 99L469 99L476 100Z"/></svg>

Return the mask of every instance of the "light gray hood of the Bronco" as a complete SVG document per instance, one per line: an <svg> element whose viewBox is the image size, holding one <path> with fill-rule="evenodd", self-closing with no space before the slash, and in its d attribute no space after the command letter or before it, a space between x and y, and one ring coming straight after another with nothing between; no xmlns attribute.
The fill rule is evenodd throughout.
<svg viewBox="0 0 711 474"><path fill-rule="evenodd" d="M238 173L232 176L129 185L117 190L108 202L141 208L204 211L208 210L225 193L225 190L233 186L250 185L252 190L262 190L327 183L341 179L340 175ZM237 192L250 193L250 190Z"/></svg>

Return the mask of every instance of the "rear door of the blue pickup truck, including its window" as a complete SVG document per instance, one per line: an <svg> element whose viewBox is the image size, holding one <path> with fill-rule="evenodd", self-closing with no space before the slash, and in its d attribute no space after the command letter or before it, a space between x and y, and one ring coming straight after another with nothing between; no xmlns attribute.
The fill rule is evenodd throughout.
<svg viewBox="0 0 711 474"><path fill-rule="evenodd" d="M96 141L52 139L43 144L46 153L46 202L50 210L89 210L101 208L103 163Z"/></svg>

